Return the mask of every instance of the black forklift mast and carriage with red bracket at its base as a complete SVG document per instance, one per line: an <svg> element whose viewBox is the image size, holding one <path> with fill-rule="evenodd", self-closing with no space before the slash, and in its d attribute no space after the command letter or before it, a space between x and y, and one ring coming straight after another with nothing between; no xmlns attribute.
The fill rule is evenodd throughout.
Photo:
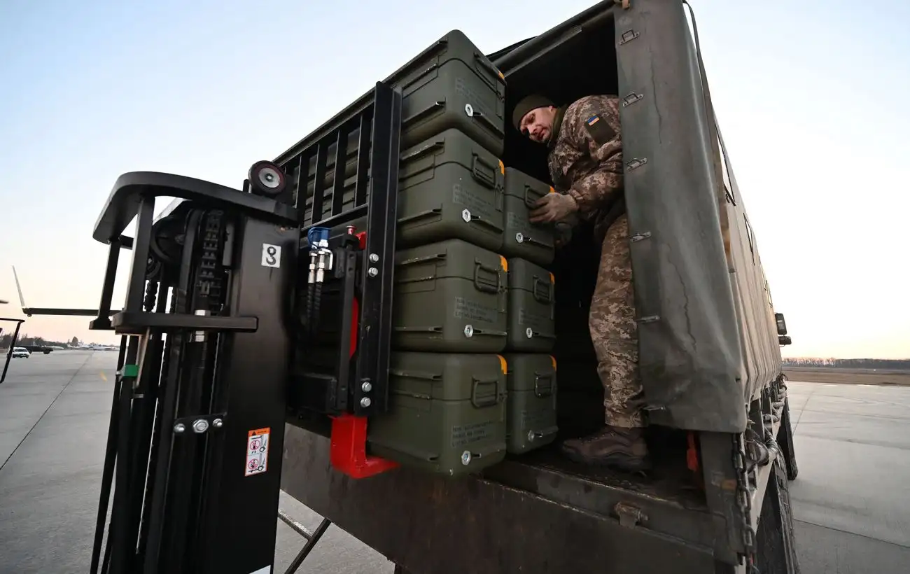
<svg viewBox="0 0 910 574"><path fill-rule="evenodd" d="M122 342L93 574L272 571L288 380L319 333L323 283L343 295L342 357L295 407L329 416L342 472L396 466L367 455L366 424L388 405L400 115L400 91L377 84L369 106L293 158L304 167L295 182L271 162L254 164L242 190L153 172L117 179L94 231L109 256L91 328ZM315 159L325 178L335 144L343 169L355 129L354 208L342 213L336 175L329 217L303 221L306 167ZM159 196L183 201L156 220ZM366 227L351 224L359 217ZM124 237L134 218L136 237ZM132 263L126 305L112 313L121 248Z"/></svg>

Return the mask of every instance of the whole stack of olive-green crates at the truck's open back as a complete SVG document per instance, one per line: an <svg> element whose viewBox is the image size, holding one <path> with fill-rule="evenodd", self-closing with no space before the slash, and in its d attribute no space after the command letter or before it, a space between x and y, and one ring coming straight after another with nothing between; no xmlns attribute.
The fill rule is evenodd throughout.
<svg viewBox="0 0 910 574"><path fill-rule="evenodd" d="M460 32L389 83L402 90L389 412L370 420L369 443L406 466L476 472L555 435L552 279L540 267L552 260L552 237L527 221L527 202L550 188L541 192L540 182L502 165L505 82ZM354 205L357 141L355 132L345 209ZM332 203L332 146L327 156L323 218ZM522 186L521 206L510 178ZM366 219L353 225L362 229ZM519 233L527 239L516 243ZM330 337L330 322L324 328Z"/></svg>

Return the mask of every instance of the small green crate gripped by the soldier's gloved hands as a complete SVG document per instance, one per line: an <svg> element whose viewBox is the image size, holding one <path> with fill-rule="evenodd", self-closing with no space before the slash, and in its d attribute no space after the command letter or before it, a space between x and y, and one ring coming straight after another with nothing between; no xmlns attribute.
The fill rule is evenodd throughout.
<svg viewBox="0 0 910 574"><path fill-rule="evenodd" d="M534 203L551 193L552 187L514 167L505 169L505 180L500 253L509 258L521 257L538 265L549 265L556 251L554 226L531 224L529 217Z"/></svg>

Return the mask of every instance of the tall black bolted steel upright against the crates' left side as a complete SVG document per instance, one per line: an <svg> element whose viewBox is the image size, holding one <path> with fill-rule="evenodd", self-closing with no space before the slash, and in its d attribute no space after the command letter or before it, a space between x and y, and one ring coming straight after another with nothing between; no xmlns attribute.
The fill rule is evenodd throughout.
<svg viewBox="0 0 910 574"><path fill-rule="evenodd" d="M360 297L357 377L354 381L354 412L358 415L385 411L389 398L401 93L378 83L374 101L367 248L361 275L363 293Z"/></svg>

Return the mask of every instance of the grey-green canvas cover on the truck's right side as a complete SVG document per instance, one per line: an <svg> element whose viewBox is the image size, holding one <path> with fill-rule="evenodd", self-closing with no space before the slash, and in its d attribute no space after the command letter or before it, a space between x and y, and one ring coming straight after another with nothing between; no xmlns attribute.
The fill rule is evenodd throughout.
<svg viewBox="0 0 910 574"><path fill-rule="evenodd" d="M712 160L693 36L682 2L637 0L614 13L618 40L638 34L617 43L618 94L641 96L621 120L650 419L742 432L748 398L780 372L780 349L744 207L724 201ZM494 64L508 81L509 66Z"/></svg>

